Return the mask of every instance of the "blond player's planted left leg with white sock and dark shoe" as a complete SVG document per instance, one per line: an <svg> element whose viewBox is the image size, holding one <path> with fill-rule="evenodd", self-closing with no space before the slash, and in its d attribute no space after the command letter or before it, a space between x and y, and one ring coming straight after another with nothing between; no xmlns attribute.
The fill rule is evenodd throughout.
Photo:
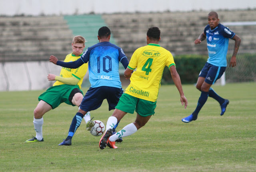
<svg viewBox="0 0 256 172"><path fill-rule="evenodd" d="M52 107L44 102L43 100L40 100L36 108L34 109L34 129L36 131L36 137L33 137L32 139L28 139L26 142L36 142L36 141L44 141L43 139L43 124L44 124L44 113L50 111Z"/></svg>

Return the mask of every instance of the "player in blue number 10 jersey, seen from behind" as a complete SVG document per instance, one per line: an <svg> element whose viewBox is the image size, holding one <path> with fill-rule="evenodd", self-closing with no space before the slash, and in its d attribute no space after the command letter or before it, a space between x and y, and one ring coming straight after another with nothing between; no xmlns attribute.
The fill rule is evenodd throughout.
<svg viewBox="0 0 256 172"><path fill-rule="evenodd" d="M91 87L86 92L79 111L72 120L68 137L59 145L71 145L71 139L76 129L80 126L82 117L88 111L98 109L104 99L108 101L108 110L112 110L123 94L118 71L119 61L124 68L127 68L128 60L120 47L109 42L110 36L110 29L106 26L101 27L98 30L99 43L89 47L77 61L65 63L58 61L54 56L50 57L50 62L68 68L77 68L84 63L88 63L91 83ZM87 126L89 127L88 130L90 130L94 126L94 122L88 122Z"/></svg>

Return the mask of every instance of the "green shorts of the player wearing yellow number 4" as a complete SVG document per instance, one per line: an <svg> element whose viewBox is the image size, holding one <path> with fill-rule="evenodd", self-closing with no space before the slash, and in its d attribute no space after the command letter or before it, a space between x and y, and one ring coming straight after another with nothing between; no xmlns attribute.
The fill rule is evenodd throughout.
<svg viewBox="0 0 256 172"><path fill-rule="evenodd" d="M135 110L140 116L146 117L154 115L156 102L150 102L124 93L120 97L116 109L127 113L134 113Z"/></svg>

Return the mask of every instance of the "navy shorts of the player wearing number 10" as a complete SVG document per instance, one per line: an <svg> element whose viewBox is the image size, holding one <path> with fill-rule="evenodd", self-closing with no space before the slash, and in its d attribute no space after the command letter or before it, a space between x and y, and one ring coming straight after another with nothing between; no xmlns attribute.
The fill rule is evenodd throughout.
<svg viewBox="0 0 256 172"><path fill-rule="evenodd" d="M83 111L92 111L98 109L100 108L104 99L107 99L108 101L108 110L115 109L123 92L124 90L122 88L116 87L90 87L81 102L80 109Z"/></svg>

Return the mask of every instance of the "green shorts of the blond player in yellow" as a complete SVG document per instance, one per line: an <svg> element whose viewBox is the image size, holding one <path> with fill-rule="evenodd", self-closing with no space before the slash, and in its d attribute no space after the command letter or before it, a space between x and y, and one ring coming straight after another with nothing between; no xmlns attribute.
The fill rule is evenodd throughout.
<svg viewBox="0 0 256 172"><path fill-rule="evenodd" d="M57 108L63 102L72 106L76 106L72 104L72 98L78 92L83 94L78 85L73 86L62 84L48 88L46 92L38 97L38 100L43 100L49 104L52 109Z"/></svg>

